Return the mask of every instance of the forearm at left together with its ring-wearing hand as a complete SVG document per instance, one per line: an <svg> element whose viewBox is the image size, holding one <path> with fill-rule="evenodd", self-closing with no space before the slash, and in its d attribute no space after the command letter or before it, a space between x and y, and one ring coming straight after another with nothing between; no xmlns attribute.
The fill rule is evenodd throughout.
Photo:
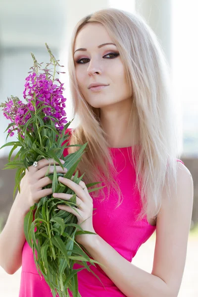
<svg viewBox="0 0 198 297"><path fill-rule="evenodd" d="M39 170L33 165L26 169L21 180L20 194L14 200L6 225L0 234L0 266L9 274L16 272L22 264L22 248L25 243L24 218L30 207L38 203L42 197L52 194L52 188L44 187L52 183L46 173L54 172L53 159L38 161ZM55 165L58 163L55 161ZM61 166L56 167L56 172L65 173Z"/></svg>

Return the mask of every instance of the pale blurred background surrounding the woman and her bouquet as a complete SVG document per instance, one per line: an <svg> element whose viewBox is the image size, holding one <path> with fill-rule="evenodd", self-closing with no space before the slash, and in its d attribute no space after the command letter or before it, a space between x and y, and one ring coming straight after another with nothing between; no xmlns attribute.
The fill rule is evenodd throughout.
<svg viewBox="0 0 198 297"><path fill-rule="evenodd" d="M171 68L172 92L177 105L181 159L194 180L194 207L189 235L186 267L179 297L197 297L198 275L198 1L196 0L0 0L0 102L11 95L22 101L25 78L33 60L49 62L45 42L65 68L59 79L64 83L67 120L73 118L67 54L71 33L83 16L114 7L138 11L158 36ZM70 127L77 125L77 119ZM8 121L0 111L0 147ZM15 141L16 136L7 142ZM13 203L15 170L4 170L11 147L0 149L0 231ZM17 150L15 150L17 152ZM155 233L140 247L133 264L151 272ZM8 275L0 267L0 296L17 297L21 268Z"/></svg>

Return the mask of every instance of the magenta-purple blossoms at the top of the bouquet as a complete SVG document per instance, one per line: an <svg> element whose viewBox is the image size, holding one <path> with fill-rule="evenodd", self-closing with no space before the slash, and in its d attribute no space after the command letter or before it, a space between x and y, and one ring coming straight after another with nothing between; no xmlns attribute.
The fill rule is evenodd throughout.
<svg viewBox="0 0 198 297"><path fill-rule="evenodd" d="M3 115L6 119L14 122L12 129L8 129L10 137L14 135L14 130L18 130L21 137L24 136L21 133L20 127L31 118L30 110L36 113L37 107L46 106L43 108L44 122L49 119L48 116L53 116L56 120L51 118L55 122L56 129L61 132L64 128L64 124L67 123L66 112L64 110L66 98L63 97L62 93L65 90L64 84L61 84L59 79L55 79L60 86L53 84L52 80L47 79L47 74L39 74L33 72L26 77L25 90L23 92L23 98L28 102L23 103L18 97L8 98L8 101L2 103L0 107L3 107ZM34 104L33 104L34 102ZM49 106L49 107L48 107ZM30 128L31 125L30 125Z"/></svg>

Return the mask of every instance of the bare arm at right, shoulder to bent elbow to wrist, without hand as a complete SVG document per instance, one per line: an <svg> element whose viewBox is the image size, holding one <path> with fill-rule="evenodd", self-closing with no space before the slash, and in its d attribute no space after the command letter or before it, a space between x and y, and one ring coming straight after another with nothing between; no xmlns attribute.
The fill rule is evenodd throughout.
<svg viewBox="0 0 198 297"><path fill-rule="evenodd" d="M127 297L177 297L186 261L193 208L193 179L178 162L178 192L162 199L157 225L151 274L123 258L99 235L90 235L83 246L105 267L101 269Z"/></svg>

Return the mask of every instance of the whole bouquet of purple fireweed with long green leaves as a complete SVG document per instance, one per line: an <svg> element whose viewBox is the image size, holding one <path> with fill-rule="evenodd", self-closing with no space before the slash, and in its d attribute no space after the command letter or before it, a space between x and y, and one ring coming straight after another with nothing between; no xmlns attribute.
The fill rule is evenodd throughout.
<svg viewBox="0 0 198 297"><path fill-rule="evenodd" d="M68 169L66 174L57 173L56 166L54 166L54 173L48 175L48 171L46 176L52 181L53 193L66 193L73 196L67 201L54 198L52 195L41 198L38 203L30 207L25 216L24 233L33 250L37 270L40 276L44 276L53 297L56 294L59 297L69 296L68 289L74 297L79 297L81 295L78 292L77 272L86 268L94 273L87 261L93 265L99 264L99 262L90 258L88 252L84 252L82 246L75 241L75 236L77 234L95 233L84 231L77 224L77 217L74 214L56 208L56 205L61 202L78 212L75 207L76 194L70 188L59 183L57 177L63 176L71 179L87 143L73 145L79 146L79 149L68 154L65 158L63 157L64 148L70 147L67 146L68 142L62 144L69 137L65 131L72 121L67 122L65 117L64 102L66 99L62 95L63 84L60 83L59 79L55 79L56 66L60 66L59 60L55 59L47 44L46 47L50 55L50 62L47 63L45 69L41 69L43 63L39 64L34 54L31 53L34 66L30 68L32 71L28 72L29 75L26 78L23 92L23 97L27 103L23 103L18 97L11 96L8 101L0 104L0 107L3 108L3 115L11 121L5 130L8 130L7 137L13 136L15 130L17 130L18 136L17 141L6 143L1 148L13 147L8 155L8 163L4 168L17 168L13 197L17 188L20 193L20 181L25 175L25 170L35 161L42 158L53 158L62 168ZM52 71L48 69L49 65L53 66ZM40 69L43 70L43 73L39 73ZM65 72L57 72L57 74L59 73ZM20 147L19 151L14 159L10 160L13 151L18 147ZM60 162L60 158L64 159L64 164ZM78 177L77 170L73 182L78 184L83 176L84 174ZM87 184L86 186L89 188L99 183ZM49 187L50 185L45 188ZM90 193L101 188L89 189L88 191ZM74 263L79 263L83 267L73 269ZM96 274L94 275L99 278Z"/></svg>

